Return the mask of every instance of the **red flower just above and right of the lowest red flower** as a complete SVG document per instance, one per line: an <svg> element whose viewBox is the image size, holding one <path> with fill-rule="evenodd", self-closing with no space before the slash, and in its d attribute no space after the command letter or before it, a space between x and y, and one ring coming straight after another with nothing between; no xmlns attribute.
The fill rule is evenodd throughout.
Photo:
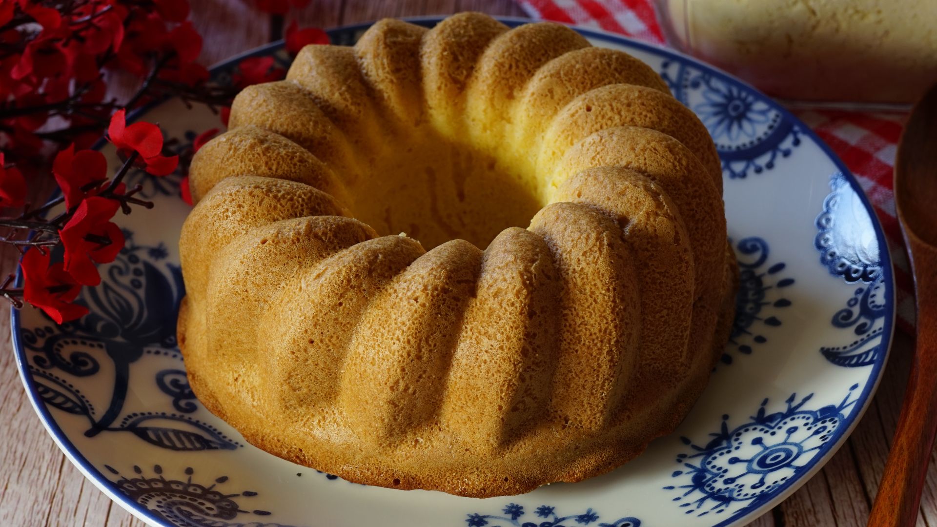
<svg viewBox="0 0 937 527"><path fill-rule="evenodd" d="M111 221L120 203L99 196L78 205L59 231L65 248L65 270L82 285L97 285L97 264L108 264L124 247L124 233Z"/></svg>

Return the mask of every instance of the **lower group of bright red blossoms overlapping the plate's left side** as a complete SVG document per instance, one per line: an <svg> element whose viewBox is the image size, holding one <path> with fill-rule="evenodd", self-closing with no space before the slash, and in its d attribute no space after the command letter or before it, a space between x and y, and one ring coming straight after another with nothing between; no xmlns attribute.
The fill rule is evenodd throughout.
<svg viewBox="0 0 937 527"><path fill-rule="evenodd" d="M178 156L164 157L163 136L156 125L135 123L126 126L124 110L114 113L108 127L108 140L119 150L126 162L113 178L108 177L107 160L97 150L77 150L74 144L60 151L52 163L52 173L62 196L36 210L24 210L17 218L0 219L0 225L32 229L27 239L7 237L26 250L20 267L22 289L7 289L3 294L14 303L22 300L45 311L52 320L62 324L87 312L73 304L82 285L100 283L97 264L108 264L124 247L124 233L112 221L118 210L130 212L131 204L152 206L133 197L141 188L127 190L123 183L127 171L135 163L153 175L166 175L175 170ZM26 187L22 174L15 168L0 173L3 204L22 206ZM37 217L52 207L65 203L65 212L49 220ZM62 262L52 264L52 248L62 248Z"/></svg>

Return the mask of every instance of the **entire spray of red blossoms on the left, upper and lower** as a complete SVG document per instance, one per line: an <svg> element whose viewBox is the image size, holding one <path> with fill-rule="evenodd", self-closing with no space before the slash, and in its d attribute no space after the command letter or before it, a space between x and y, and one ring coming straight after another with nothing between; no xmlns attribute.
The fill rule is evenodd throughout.
<svg viewBox="0 0 937 527"><path fill-rule="evenodd" d="M309 0L247 0L282 15ZM113 262L124 233L113 222L130 205L153 203L134 197L123 180L132 166L166 175L179 156L164 156L156 125L126 124L126 110L166 96L187 106L204 103L227 124L231 100L249 84L282 79L286 71L272 56L240 62L232 83L210 80L196 62L202 39L189 22L189 0L0 0L0 208L19 211L0 217L0 242L23 251L22 288L0 285L0 295L45 311L61 324L87 312L75 300L82 286L101 279L97 264ZM286 47L292 54L306 44L325 44L320 29L290 23ZM106 99L110 72L126 71L139 89L125 101ZM126 159L109 177L106 158L87 149L106 137ZM218 132L202 132L182 154L187 161ZM54 148L53 148L54 147ZM51 154L56 152L54 156ZM24 163L52 165L61 196L38 208L27 203ZM20 165L22 172L14 165ZM187 178L182 197L191 203ZM64 211L47 218L55 207Z"/></svg>

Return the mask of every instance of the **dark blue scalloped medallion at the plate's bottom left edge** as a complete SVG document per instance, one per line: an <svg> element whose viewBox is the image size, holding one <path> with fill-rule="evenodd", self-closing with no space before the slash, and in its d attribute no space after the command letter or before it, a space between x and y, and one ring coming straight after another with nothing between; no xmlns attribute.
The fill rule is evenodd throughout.
<svg viewBox="0 0 937 527"><path fill-rule="evenodd" d="M231 522L243 515L266 517L269 511L254 509L244 510L238 502L241 497L252 498L257 492L243 490L231 493L219 489L228 483L228 476L216 477L205 486L192 480L195 471L186 468L186 479L167 479L159 465L153 467L155 475L147 476L139 466L133 467L134 475L121 475L111 465L104 465L108 472L119 475L112 480L113 485L131 502L139 504L156 518L177 527L290 527L281 523L270 523L257 519L249 522ZM237 501L235 501L237 499Z"/></svg>

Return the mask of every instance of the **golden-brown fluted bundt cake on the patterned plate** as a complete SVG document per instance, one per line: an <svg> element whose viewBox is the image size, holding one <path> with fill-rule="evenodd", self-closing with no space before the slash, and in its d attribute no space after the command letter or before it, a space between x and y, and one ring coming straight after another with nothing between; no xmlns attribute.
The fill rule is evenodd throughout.
<svg viewBox="0 0 937 527"><path fill-rule="evenodd" d="M558 24L384 20L306 47L235 99L190 188L192 388L353 482L483 497L602 474L677 426L728 338L706 128Z"/></svg>

